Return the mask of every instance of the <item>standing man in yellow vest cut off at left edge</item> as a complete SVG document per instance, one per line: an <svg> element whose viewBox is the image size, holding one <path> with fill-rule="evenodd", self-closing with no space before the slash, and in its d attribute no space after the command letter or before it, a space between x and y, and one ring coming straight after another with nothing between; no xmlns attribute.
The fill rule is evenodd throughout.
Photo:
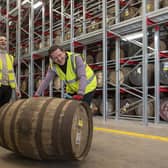
<svg viewBox="0 0 168 168"><path fill-rule="evenodd" d="M7 53L6 48L6 37L0 35L0 107L10 101L12 89L21 97L13 69L14 58Z"/></svg>

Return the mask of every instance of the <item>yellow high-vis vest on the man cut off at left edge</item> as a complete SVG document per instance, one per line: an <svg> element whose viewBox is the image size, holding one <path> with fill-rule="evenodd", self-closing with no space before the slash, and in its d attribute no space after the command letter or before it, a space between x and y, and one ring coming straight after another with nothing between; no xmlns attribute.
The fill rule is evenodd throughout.
<svg viewBox="0 0 168 168"><path fill-rule="evenodd" d="M6 65L8 70L9 86L11 88L16 88L15 74L13 70L14 58L9 54L6 54L5 58L6 58ZM3 63L2 63L2 60L0 59L0 86L2 84L2 69L3 69Z"/></svg>

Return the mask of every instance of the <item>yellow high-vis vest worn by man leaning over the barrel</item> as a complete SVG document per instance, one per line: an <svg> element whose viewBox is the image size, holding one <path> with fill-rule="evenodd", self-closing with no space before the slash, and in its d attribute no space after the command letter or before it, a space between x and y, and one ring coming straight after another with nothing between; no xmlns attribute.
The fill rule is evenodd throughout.
<svg viewBox="0 0 168 168"><path fill-rule="evenodd" d="M79 54L73 54L71 52L66 52L68 56L67 60L67 71L66 74L61 70L59 65L53 64L50 62L50 67L53 71L57 73L61 80L64 80L66 83L66 92L67 93L77 93L79 89L79 79L77 77L76 70L76 56ZM87 86L85 88L85 94L96 89L97 80L92 69L84 62L85 64L85 72L87 78Z"/></svg>

